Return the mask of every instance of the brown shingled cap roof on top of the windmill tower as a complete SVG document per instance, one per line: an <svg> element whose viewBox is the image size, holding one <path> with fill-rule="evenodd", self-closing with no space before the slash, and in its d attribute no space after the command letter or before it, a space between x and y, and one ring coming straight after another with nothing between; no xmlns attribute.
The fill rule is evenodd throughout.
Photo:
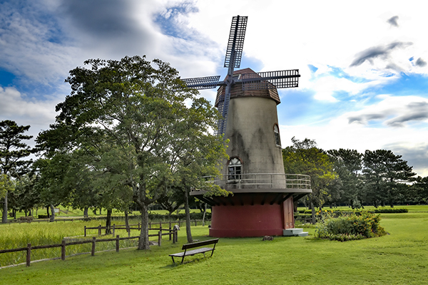
<svg viewBox="0 0 428 285"><path fill-rule="evenodd" d="M233 76L239 75L239 74L248 74L248 73L255 73L251 68L244 68L240 69L239 71L234 71ZM226 78L228 78L226 76ZM215 99L215 107L218 107L218 100L220 100L220 95L225 94L226 86L220 86L217 90L217 98ZM262 89L262 90L243 90L243 84L242 83L235 83L232 86L232 89L230 90L230 99L232 98L241 98L241 97L265 97L265 98L271 98L272 100L275 100L277 105L281 103L280 96L278 95L278 91L276 88L272 89Z"/></svg>

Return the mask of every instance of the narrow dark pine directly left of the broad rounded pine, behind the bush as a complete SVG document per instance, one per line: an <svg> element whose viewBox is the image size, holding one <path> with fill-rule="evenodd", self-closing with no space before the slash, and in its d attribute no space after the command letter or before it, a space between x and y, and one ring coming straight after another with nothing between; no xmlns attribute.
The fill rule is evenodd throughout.
<svg viewBox="0 0 428 285"><path fill-rule="evenodd" d="M339 175L342 187L340 190L343 202L350 204L352 209L362 207L362 154L357 150L328 150L332 161L334 161L335 172Z"/></svg>

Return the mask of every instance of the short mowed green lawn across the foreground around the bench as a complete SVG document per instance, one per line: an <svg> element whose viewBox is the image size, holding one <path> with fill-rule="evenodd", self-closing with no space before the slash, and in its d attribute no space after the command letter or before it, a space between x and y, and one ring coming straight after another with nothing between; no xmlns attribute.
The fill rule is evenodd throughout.
<svg viewBox="0 0 428 285"><path fill-rule="evenodd" d="M428 284L428 213L382 214L381 224L389 235L352 242L222 238L213 257L173 266L168 254L185 243L182 227L178 244L165 237L148 252L121 249L0 269L0 284ZM192 231L209 239L207 227Z"/></svg>

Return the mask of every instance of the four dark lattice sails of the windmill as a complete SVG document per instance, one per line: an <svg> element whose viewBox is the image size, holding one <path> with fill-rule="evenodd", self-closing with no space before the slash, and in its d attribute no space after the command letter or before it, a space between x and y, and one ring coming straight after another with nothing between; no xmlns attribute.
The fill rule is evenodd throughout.
<svg viewBox="0 0 428 285"><path fill-rule="evenodd" d="M232 19L224 64L224 67L228 68L228 76L226 76L225 81L219 81L220 76L182 79L188 88L197 90L225 86L225 94L221 95L219 98L220 100L218 100L218 111L222 115L222 118L218 120L218 128L215 130L215 135L222 135L225 133L225 128L228 123L230 90L236 83L241 83L243 90L298 87L298 78L300 77L298 69L245 73L239 76L233 76L235 68L240 68L247 21L248 16L238 15L234 16Z"/></svg>

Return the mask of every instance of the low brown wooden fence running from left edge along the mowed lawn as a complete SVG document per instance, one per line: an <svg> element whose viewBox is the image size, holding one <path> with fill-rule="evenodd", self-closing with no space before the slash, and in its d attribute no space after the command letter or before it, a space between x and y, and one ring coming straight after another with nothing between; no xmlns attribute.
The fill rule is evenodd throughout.
<svg viewBox="0 0 428 285"><path fill-rule="evenodd" d="M165 230L165 229L164 229ZM162 230L158 232L158 234L149 234L148 237L158 237L158 246L161 247L162 244L162 236L164 235L170 235L172 234L173 237L173 243L178 242L178 232L177 230L169 231L168 233L162 233ZM66 239L63 239L61 244L48 244L48 245L39 245L36 247L32 247L31 244L27 244L27 247L21 247L19 249L0 249L0 254L7 253L7 252L24 252L26 251L26 266L30 266L31 263L31 250L34 249L49 249L54 247L61 247L61 259L66 260L66 247L70 245L76 245L76 244L88 244L92 243L92 250L91 255L95 255L95 248L97 242L113 242L116 241L116 252L119 252L119 242L121 240L125 239L140 239L139 236L137 237L119 237L118 235L116 238L112 239L97 239L96 237L93 237L92 240L86 240L86 241L80 241L80 242L66 242Z"/></svg>

